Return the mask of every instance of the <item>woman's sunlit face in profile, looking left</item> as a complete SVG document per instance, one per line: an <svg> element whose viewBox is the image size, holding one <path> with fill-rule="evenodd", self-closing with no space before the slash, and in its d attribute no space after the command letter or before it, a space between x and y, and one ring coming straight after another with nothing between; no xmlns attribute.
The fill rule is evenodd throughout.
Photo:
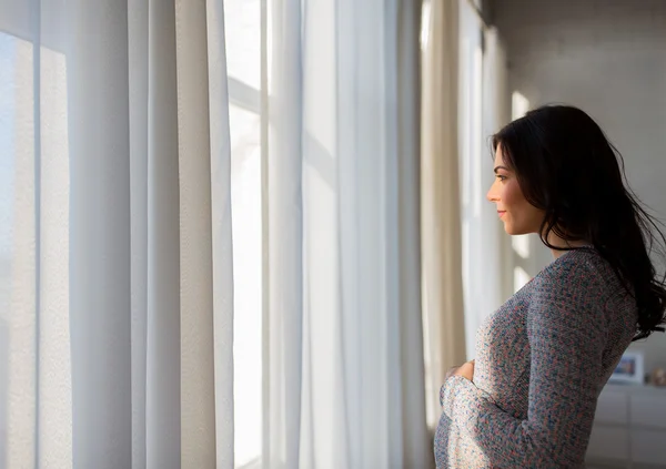
<svg viewBox="0 0 666 469"><path fill-rule="evenodd" d="M502 159L502 146L495 152L495 182L487 198L497 206L497 215L509 235L538 233L544 220L544 211L532 205L518 184L518 180Z"/></svg>

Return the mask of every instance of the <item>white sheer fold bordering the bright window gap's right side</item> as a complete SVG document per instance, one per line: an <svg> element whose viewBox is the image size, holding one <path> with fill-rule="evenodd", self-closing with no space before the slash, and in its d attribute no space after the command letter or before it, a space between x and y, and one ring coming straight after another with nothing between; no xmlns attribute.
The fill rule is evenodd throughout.
<svg viewBox="0 0 666 469"><path fill-rule="evenodd" d="M275 0L269 94L271 467L299 465L303 318L301 1ZM264 411L266 411L264 410Z"/></svg>

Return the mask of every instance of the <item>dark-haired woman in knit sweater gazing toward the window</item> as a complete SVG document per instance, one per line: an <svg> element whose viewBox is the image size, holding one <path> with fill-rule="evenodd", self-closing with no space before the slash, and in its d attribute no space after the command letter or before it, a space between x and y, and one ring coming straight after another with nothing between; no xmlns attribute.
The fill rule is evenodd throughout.
<svg viewBox="0 0 666 469"><path fill-rule="evenodd" d="M664 330L664 241L583 111L544 106L493 137L487 197L555 259L491 315L440 391L437 468L582 468L597 398L633 339ZM657 234L658 239L655 239Z"/></svg>

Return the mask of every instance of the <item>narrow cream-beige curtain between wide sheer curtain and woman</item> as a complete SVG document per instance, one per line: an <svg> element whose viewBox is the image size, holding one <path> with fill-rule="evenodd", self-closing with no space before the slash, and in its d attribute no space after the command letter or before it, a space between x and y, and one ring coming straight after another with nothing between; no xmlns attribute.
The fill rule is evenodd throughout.
<svg viewBox="0 0 666 469"><path fill-rule="evenodd" d="M427 421L442 414L440 387L465 361L458 182L458 2L432 0L423 49L422 239Z"/></svg>

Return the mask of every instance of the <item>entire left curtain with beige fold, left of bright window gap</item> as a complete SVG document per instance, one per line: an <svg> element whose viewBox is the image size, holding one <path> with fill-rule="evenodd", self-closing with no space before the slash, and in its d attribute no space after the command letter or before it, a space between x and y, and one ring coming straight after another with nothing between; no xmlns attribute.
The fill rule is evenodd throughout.
<svg viewBox="0 0 666 469"><path fill-rule="evenodd" d="M233 467L222 1L0 18L0 467Z"/></svg>

